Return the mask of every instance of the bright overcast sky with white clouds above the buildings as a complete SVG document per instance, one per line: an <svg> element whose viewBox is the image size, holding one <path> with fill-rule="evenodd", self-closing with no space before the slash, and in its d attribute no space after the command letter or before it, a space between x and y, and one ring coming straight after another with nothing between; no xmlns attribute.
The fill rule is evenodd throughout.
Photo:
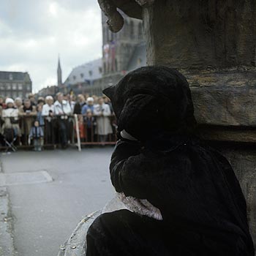
<svg viewBox="0 0 256 256"><path fill-rule="evenodd" d="M33 90L56 84L73 67L101 57L97 0L0 0L0 70L29 72Z"/></svg>

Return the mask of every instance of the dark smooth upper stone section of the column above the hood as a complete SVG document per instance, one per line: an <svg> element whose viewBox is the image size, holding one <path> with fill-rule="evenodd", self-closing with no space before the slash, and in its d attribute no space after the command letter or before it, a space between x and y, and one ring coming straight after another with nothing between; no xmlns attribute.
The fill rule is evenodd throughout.
<svg viewBox="0 0 256 256"><path fill-rule="evenodd" d="M143 11L148 64L255 67L255 17L252 0L155 1Z"/></svg>

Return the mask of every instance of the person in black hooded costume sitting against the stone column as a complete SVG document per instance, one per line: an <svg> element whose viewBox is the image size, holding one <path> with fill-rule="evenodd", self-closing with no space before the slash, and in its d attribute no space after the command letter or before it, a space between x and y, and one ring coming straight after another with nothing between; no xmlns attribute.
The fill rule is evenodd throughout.
<svg viewBox="0 0 256 256"><path fill-rule="evenodd" d="M193 135L186 78L143 67L103 92L118 120L110 177L129 210L95 219L87 256L254 255L232 167Z"/></svg>

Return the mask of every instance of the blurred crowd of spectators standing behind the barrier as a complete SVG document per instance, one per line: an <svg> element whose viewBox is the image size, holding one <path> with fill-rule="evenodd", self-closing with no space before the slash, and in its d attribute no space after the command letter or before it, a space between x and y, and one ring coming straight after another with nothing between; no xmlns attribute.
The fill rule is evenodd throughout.
<svg viewBox="0 0 256 256"><path fill-rule="evenodd" d="M67 148L76 139L74 114L82 142L114 140L116 125L108 97L58 93L36 99L29 94L28 99L0 96L1 145L15 139L18 145L33 143L36 151L43 144Z"/></svg>

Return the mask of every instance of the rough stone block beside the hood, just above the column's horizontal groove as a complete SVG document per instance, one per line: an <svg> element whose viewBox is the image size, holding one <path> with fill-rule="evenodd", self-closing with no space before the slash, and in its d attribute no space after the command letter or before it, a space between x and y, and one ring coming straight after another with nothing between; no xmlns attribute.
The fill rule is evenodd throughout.
<svg viewBox="0 0 256 256"><path fill-rule="evenodd" d="M191 86L191 92L198 124L256 127L256 82L254 86Z"/></svg>

